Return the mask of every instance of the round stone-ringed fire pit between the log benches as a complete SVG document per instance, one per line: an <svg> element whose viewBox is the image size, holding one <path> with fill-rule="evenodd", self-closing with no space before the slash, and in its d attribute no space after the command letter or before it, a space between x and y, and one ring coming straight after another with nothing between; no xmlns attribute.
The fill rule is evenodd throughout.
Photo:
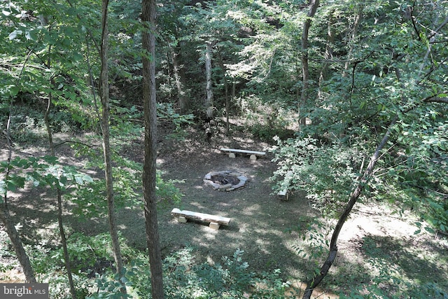
<svg viewBox="0 0 448 299"><path fill-rule="evenodd" d="M238 172L209 172L204 176L204 183L220 191L231 191L244 187L246 181L248 178Z"/></svg>

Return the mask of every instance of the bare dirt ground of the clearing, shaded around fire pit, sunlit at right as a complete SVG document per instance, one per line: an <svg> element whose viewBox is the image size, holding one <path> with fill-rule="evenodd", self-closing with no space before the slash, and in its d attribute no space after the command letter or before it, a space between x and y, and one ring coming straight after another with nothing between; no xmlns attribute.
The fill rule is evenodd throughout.
<svg viewBox="0 0 448 299"><path fill-rule="evenodd" d="M255 141L241 132L235 132L231 138L214 137L209 143L202 141L195 132L182 142L167 141L160 137L159 169L162 169L165 179L183 180L183 183L176 183L176 186L185 195L180 205L163 205L158 211L162 254L167 256L183 246L192 246L197 251L198 261L220 263L222 256L232 256L236 249L241 249L244 250L243 258L251 269L261 272L279 268L285 279L300 286L297 281L303 279L303 270L309 266L309 260L297 254L302 243L299 231L305 230L318 217L317 212L298 193L291 195L288 201L271 194L272 183L269 177L276 169L275 163L271 162L271 153L267 152L265 157L252 161L246 155L229 158L219 151L221 147L254 151L269 149L268 144ZM3 160L6 150L1 147L0 150L0 160ZM23 150L21 154L41 154L42 151L42 148L36 147ZM130 145L127 155L141 162L141 143ZM244 188L230 192L214 190L204 184L205 174L223 170L239 172L248 177L249 181ZM52 199L47 192L33 193L27 190L25 193L11 195L16 199L11 200L11 211L18 223L23 223L25 228L31 230L50 231L55 228L53 221L45 219L45 215L50 217L52 214L52 204L49 203ZM28 200L22 200L24 196ZM42 212L41 207L49 210ZM213 230L207 223L178 223L170 214L174 207L229 217L230 225ZM339 237L338 257L330 270L330 276L325 278L326 285L330 286L332 281L344 280L337 276L363 265L364 243L366 237L370 237L375 240L374 246L390 254L398 265L412 263L418 269L423 267L428 275L434 276L441 285L448 287L447 259L444 258L448 252L447 240L426 233L414 235L417 229L414 225L416 218L393 212L386 207L363 204L356 206ZM54 214L52 219L55 219L53 216ZM72 224L88 234L107 231L106 219L92 219L90 223L83 224L73 221ZM142 211L119 211L118 226L129 244L145 249ZM444 263L434 262L441 258Z"/></svg>

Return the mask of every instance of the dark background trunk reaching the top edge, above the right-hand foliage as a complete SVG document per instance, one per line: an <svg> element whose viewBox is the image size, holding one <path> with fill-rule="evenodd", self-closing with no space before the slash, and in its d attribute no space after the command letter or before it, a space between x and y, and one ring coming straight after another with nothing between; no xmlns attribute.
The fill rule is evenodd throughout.
<svg viewBox="0 0 448 299"><path fill-rule="evenodd" d="M309 27L311 27L311 20L316 14L317 8L319 6L319 0L310 0L309 12L307 15L307 20L303 24L302 32L302 93L300 94L300 102L298 105L299 110L299 125L305 125L305 118L303 116L303 108L307 103L308 99L308 89L309 89L309 67L308 67L308 36Z"/></svg>

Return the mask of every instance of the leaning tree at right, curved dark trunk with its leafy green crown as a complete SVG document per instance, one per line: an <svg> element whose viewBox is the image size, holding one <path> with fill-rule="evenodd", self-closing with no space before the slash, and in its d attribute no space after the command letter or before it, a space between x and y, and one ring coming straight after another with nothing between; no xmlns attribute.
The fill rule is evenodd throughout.
<svg viewBox="0 0 448 299"><path fill-rule="evenodd" d="M446 217L442 214L446 206L442 204L442 198L446 194L447 180L442 179L440 173L446 172L446 162L440 161L446 161L446 155L441 152L442 148L446 148L446 137L440 139L440 129L446 128L446 118L442 115L446 114L446 106L443 104L447 101L446 86L437 77L446 69L446 49L440 43L446 43L441 32L448 19L441 13L443 6L431 13L426 10L427 7L421 3L413 8L402 8L406 18L398 23L395 22L398 18L396 12L400 11L397 7L369 7L369 11L365 11L367 15L363 19L363 30L359 23L363 10L358 8L358 32L354 36L352 32L352 40L355 37L363 41L372 36L374 38L359 48L353 47L353 44L346 45L346 55L349 56L332 61L335 71L346 70L346 62L353 66L351 81L333 72L331 80L325 83L325 92L319 98L321 104L316 106L318 111L315 114L325 125L307 127L304 134L296 139L297 146L283 155L280 163L284 170L282 174L293 172L293 183L297 184L293 188L307 190L314 204L321 200L318 204L323 214L339 219L332 233L328 256L323 265L309 277L304 298L310 297L335 260L339 232L359 199L388 200L403 209L409 206L412 209L416 206L424 207L420 213L425 215L425 219L431 218L426 213L432 210L428 210L428 207L433 205L439 212L435 213L438 215L437 221L433 219L432 222L437 223L435 227L440 230L445 229ZM385 17L379 20L375 18L378 11ZM414 13L409 16L407 11ZM425 18L428 20L423 20ZM438 42L431 41L430 36L437 36ZM432 55L430 59L428 53ZM327 62L323 60L323 63ZM423 137L423 132L432 137ZM301 152L305 149L303 140L307 135L318 139L312 147L314 153L309 150ZM432 144L432 149L428 150L423 145L426 142ZM325 153L328 148L336 150ZM349 148L356 149L356 152L349 155L348 159L336 159L336 163L325 165L325 160L335 157L337 152L348 153ZM293 153L295 150L297 152ZM281 151L287 151L286 146ZM358 157L363 157L365 151L374 154L364 170L364 162L357 158L356 153ZM327 168L320 169L319 163ZM375 165L381 169L381 175L378 170L374 170ZM344 167L351 170L344 172ZM328 177L323 171L327 174L345 174ZM349 202L344 204L346 188L352 191ZM431 194L431 190L439 195ZM363 192L367 194L363 195ZM342 205L344 207L341 208ZM335 211L340 212L335 214Z"/></svg>

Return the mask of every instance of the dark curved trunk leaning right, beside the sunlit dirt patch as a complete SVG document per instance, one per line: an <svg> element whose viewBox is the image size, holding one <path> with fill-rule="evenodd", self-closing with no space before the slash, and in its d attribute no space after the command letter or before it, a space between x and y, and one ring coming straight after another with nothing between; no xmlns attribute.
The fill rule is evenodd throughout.
<svg viewBox="0 0 448 299"><path fill-rule="evenodd" d="M318 274L315 274L314 277L308 281L307 288L305 289L303 299L309 299L311 298L311 293L313 293L314 288L316 288L319 284L321 284L322 279L327 275L328 270L330 270L330 267L332 266L332 263L335 261L335 258L337 256L337 239L339 237L339 232L342 230L342 225L344 225L347 218L349 218L351 209L353 209L353 206L356 204L356 201L358 200L359 196L363 192L363 189L365 185L367 184L368 179L372 175L372 172L374 170L374 166L377 163L377 160L379 158L379 153L381 149L384 147L386 142L388 141L389 135L391 134L393 130L393 125L395 125L395 122L398 118L395 117L391 124L388 126L388 130L384 134L383 139L377 146L376 151L374 151L372 157L370 158L369 165L367 165L367 169L365 169L365 172L363 176L361 177L358 186L353 190L353 192L350 195L350 200L346 204L346 207L344 209L344 212L342 212L341 216L339 216L339 221L337 221L337 224L335 226L335 230L333 230L333 234L331 237L330 242L330 251L328 253L328 257L325 260L325 263L323 263L321 270L318 272Z"/></svg>

